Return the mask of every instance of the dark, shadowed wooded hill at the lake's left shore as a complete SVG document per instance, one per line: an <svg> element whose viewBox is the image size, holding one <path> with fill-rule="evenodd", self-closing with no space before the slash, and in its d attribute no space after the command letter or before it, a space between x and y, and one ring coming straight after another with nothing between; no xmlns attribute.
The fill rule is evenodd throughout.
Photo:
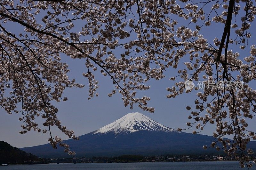
<svg viewBox="0 0 256 170"><path fill-rule="evenodd" d="M31 153L21 151L4 141L0 141L0 164L17 164L30 160L37 161L39 158Z"/></svg>

